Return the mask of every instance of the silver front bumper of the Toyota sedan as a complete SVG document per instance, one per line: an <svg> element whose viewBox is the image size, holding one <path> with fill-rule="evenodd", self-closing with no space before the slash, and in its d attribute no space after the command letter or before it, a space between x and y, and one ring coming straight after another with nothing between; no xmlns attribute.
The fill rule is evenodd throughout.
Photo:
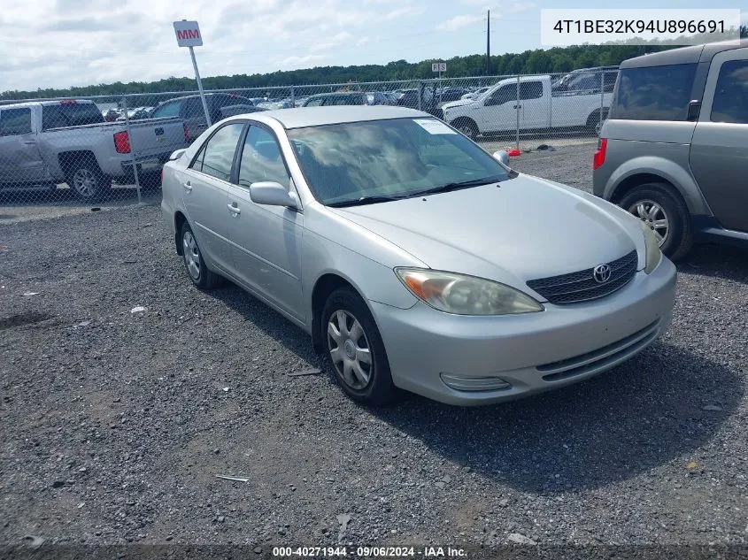
<svg viewBox="0 0 748 560"><path fill-rule="evenodd" d="M397 387L443 403L476 405L532 395L605 372L667 330L675 266L663 257L652 274L588 303L500 317L466 317L425 303L401 310L370 302ZM442 374L500 377L510 387L456 390ZM449 379L449 378L448 378Z"/></svg>

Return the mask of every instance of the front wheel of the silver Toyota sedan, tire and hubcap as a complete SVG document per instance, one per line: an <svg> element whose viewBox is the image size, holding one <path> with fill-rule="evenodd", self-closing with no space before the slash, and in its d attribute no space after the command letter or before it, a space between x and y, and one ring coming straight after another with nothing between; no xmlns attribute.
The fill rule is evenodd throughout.
<svg viewBox="0 0 748 560"><path fill-rule="evenodd" d="M320 323L325 354L345 394L368 405L395 401L398 392L382 336L364 300L351 288L336 289L325 303ZM357 329L360 334L354 340Z"/></svg>

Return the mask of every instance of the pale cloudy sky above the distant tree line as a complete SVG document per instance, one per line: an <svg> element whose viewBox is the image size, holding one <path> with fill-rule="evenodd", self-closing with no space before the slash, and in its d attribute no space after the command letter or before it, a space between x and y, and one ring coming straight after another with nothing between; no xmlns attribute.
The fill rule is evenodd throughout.
<svg viewBox="0 0 748 560"><path fill-rule="evenodd" d="M702 6L703 0L660 0L657 7ZM492 54L537 49L543 7L564 6L550 0L3 0L0 91L192 76L189 51L176 45L175 19L197 19L200 73L215 76L484 53L488 9ZM628 0L626 7L654 6ZM742 7L748 23L746 6L710 7Z"/></svg>

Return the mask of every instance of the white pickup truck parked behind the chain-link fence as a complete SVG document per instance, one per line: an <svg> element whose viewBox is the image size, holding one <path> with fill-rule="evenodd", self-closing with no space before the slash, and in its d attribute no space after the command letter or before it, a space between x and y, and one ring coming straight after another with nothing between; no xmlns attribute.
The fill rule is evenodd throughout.
<svg viewBox="0 0 748 560"><path fill-rule="evenodd" d="M508 78L474 99L445 104L442 111L444 121L472 139L516 130L518 114L522 132L579 127L595 132L610 107L612 94L605 89L554 89L550 76L521 76L519 91L517 79Z"/></svg>

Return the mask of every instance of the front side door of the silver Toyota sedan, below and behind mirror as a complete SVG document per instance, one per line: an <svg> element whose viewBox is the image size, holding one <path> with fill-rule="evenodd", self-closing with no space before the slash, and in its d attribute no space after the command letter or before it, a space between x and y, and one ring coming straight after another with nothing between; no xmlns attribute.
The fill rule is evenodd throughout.
<svg viewBox="0 0 748 560"><path fill-rule="evenodd" d="M273 133L252 125L240 154L237 183L229 193L234 206L231 239L236 275L292 317L305 319L301 292L301 241L304 214L297 209L251 201L250 185L274 181L293 188Z"/></svg>

